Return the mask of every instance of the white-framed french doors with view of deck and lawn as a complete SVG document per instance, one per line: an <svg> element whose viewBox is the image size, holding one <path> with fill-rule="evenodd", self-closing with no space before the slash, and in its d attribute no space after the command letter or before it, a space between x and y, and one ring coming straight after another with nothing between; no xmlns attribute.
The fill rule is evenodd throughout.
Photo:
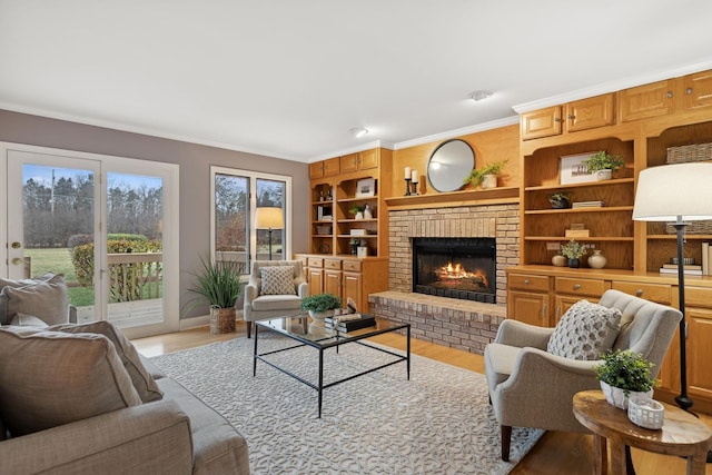
<svg viewBox="0 0 712 475"><path fill-rule="evenodd" d="M63 274L79 323L178 329L177 166L16 145L2 158L9 278Z"/></svg>

